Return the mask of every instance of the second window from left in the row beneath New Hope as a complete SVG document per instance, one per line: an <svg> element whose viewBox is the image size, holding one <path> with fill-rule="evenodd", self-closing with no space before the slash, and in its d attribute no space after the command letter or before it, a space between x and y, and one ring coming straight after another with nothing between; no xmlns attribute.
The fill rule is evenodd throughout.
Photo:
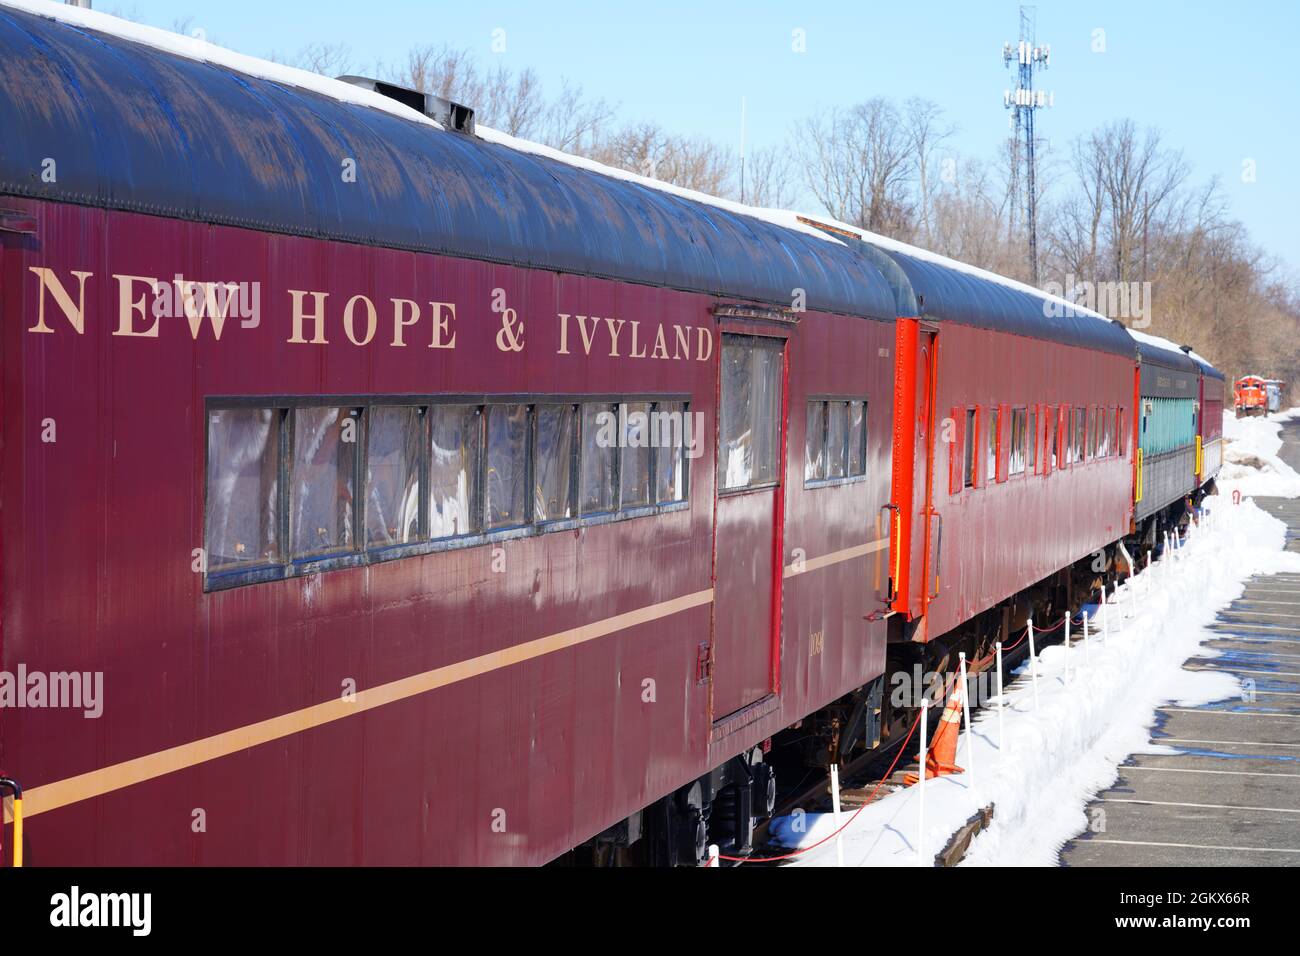
<svg viewBox="0 0 1300 956"><path fill-rule="evenodd" d="M289 476L290 538L295 558L350 551L356 545L356 449L360 408L294 408Z"/></svg>

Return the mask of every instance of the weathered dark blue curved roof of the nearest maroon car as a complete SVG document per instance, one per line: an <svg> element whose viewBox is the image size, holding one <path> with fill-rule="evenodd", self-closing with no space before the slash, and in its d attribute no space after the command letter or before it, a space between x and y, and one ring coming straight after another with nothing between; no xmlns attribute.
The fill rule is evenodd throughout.
<svg viewBox="0 0 1300 956"><path fill-rule="evenodd" d="M875 265L812 230L44 13L0 5L0 194L894 317Z"/></svg>

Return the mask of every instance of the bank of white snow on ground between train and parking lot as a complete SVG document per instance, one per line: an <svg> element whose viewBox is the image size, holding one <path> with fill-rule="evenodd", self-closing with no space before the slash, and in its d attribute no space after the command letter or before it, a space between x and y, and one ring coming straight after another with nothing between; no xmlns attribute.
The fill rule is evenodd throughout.
<svg viewBox="0 0 1300 956"><path fill-rule="evenodd" d="M1218 656L1199 645L1212 636L1206 626L1240 597L1249 578L1300 572L1300 554L1283 550L1286 527L1247 497L1300 496L1300 476L1277 458L1279 423L1291 416L1300 416L1300 408L1240 421L1227 414L1225 427L1232 440L1227 460L1253 455L1265 468L1225 464L1219 494L1205 502L1210 522L1192 531L1183 550L1121 587L1119 605L1109 609L1108 635L1095 635L1087 649L1056 644L1040 652L1037 705L1028 665L1019 669L1006 688L1005 752L998 747L996 706L974 715L974 735L963 732L957 748L957 763L967 773L926 783L923 865L932 865L949 836L988 804L994 804L993 822L974 839L963 865L1056 865L1061 845L1087 826L1086 804L1114 783L1128 754L1175 752L1150 743L1157 706L1195 706L1240 693L1236 678L1192 672L1183 662ZM1232 505L1234 489L1243 492L1240 505ZM1143 555L1139 564L1144 561ZM1078 639L1079 631L1074 633ZM939 710L931 709L932 722ZM909 749L913 753L900 766L915 757L915 741ZM862 809L840 838L845 865L916 865L918 803L918 788L910 787ZM802 832L794 832L797 822L779 818L770 832L779 843L798 847L835 830L831 814L807 814ZM836 865L836 840L792 865Z"/></svg>

